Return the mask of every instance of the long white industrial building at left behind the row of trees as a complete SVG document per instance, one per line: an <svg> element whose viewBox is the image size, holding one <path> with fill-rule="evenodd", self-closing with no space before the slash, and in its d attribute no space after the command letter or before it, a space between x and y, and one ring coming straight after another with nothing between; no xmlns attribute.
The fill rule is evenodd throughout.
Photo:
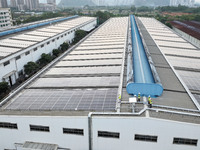
<svg viewBox="0 0 200 150"><path fill-rule="evenodd" d="M36 62L40 59L42 53L49 54L64 42L71 43L76 30L90 31L97 24L96 18L93 17L74 16L57 21L60 20L66 21L56 23L55 20L51 20L50 22L53 24L50 25L48 25L49 22L44 22L39 25L29 25L28 27L5 31L6 34L16 30L22 30L23 33L4 36L0 40L0 81L6 81L12 86L24 74L24 65L27 62ZM48 26L41 27L45 24ZM23 30L36 26L40 28L31 31Z"/></svg>

